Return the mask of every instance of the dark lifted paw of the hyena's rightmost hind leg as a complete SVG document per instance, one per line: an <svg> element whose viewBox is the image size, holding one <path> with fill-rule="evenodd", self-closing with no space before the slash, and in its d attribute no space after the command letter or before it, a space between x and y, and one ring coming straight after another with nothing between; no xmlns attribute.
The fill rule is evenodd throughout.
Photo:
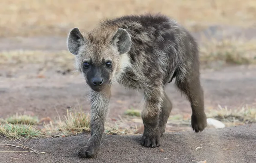
<svg viewBox="0 0 256 163"><path fill-rule="evenodd" d="M205 113L197 114L197 115L192 114L191 124L192 124L193 130L195 130L196 133L198 133L199 131L203 131L204 128L207 126Z"/></svg>

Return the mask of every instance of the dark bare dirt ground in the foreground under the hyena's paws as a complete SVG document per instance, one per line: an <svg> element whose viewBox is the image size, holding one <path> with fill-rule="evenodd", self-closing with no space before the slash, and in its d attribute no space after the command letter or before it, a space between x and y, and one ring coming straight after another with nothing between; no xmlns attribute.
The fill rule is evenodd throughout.
<svg viewBox="0 0 256 163"><path fill-rule="evenodd" d="M140 136L104 135L98 155L91 159L76 155L77 149L88 140L87 134L41 138L20 143L45 154L9 152L0 153L0 159L3 163L198 163L204 160L207 163L256 163L255 132L256 124L207 129L201 133L166 133L159 148L141 146ZM159 151L161 148L163 152ZM25 150L0 145L0 151Z"/></svg>

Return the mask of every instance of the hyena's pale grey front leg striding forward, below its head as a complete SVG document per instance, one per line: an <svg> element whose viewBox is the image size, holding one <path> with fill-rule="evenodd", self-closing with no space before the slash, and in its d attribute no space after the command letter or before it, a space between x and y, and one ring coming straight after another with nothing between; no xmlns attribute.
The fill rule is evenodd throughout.
<svg viewBox="0 0 256 163"><path fill-rule="evenodd" d="M104 133L104 122L109 111L110 88L104 92L91 92L91 137L79 151L80 157L94 157L98 153Z"/></svg>

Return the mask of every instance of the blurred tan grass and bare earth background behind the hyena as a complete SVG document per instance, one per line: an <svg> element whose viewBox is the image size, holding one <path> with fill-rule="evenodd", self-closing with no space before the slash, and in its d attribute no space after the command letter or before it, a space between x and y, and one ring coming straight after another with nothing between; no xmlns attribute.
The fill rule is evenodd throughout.
<svg viewBox="0 0 256 163"><path fill-rule="evenodd" d="M43 129L54 129L60 121L87 127L81 123L83 114L90 113L88 92L83 77L74 72L68 32L73 27L86 32L104 18L146 12L174 18L197 39L208 117L226 126L255 122L255 0L1 0L1 121L33 117ZM189 102L172 84L166 91L174 105L168 131L191 130ZM136 91L114 86L107 123L140 133L141 99ZM82 113L71 114L74 109Z"/></svg>

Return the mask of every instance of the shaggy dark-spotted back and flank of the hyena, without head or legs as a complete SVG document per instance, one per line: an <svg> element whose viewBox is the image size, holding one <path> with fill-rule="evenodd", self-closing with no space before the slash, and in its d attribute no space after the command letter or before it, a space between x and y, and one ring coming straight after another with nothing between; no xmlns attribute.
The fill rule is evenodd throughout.
<svg viewBox="0 0 256 163"><path fill-rule="evenodd" d="M166 85L174 75L184 78L191 66L198 65L198 49L188 31L176 21L161 14L129 15L102 21L88 33L89 39L107 42L118 28L128 31L132 68L120 78L123 85L140 87Z"/></svg>

